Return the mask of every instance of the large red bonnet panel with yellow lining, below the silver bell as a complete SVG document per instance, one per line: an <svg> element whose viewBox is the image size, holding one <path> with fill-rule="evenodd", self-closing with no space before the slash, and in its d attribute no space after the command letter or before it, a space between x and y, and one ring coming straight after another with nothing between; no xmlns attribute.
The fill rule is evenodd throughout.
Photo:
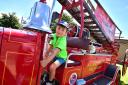
<svg viewBox="0 0 128 85"><path fill-rule="evenodd" d="M0 85L36 85L41 34L1 28L0 40Z"/></svg>

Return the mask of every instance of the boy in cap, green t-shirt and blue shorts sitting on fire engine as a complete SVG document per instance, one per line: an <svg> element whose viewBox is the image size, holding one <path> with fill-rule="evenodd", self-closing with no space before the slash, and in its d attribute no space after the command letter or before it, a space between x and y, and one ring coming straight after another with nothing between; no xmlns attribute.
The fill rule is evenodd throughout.
<svg viewBox="0 0 128 85"><path fill-rule="evenodd" d="M46 85L52 85L56 69L65 63L67 59L67 30L67 22L60 21L57 24L56 33L52 35L53 39L49 43L49 48L44 56L45 58L43 61L41 61L41 65L45 67L50 61L53 60L53 63L50 65L49 69L49 81L46 83Z"/></svg>

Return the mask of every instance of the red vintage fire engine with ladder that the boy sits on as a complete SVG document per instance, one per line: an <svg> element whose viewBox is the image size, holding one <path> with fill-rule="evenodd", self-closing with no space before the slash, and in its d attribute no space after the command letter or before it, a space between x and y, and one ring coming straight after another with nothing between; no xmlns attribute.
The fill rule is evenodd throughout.
<svg viewBox="0 0 128 85"><path fill-rule="evenodd" d="M89 0L87 1L89 2ZM86 85L119 85L120 70L115 65L118 47L115 46L114 40L110 39L112 36L104 34L105 30L102 29L101 23L98 23L97 17L90 11L86 1L75 2L74 0L72 4L68 0L66 2L58 0L58 2L62 5L59 19L61 19L63 10L66 9L81 24L79 37L71 37L71 40L68 41L66 63L56 71L55 79L59 85L75 85L79 79L86 81ZM97 0L96 3L102 7ZM80 8L77 8L78 6ZM85 16L84 12L87 12L89 16ZM107 17L109 16L107 15ZM86 22L85 19L91 21ZM111 19L110 22L118 28ZM80 51L84 46L82 48L78 46L81 43L75 44L72 40L83 42L81 40L84 28L90 30L95 40L101 43L104 49L107 49L107 53L89 54ZM46 35L46 32L35 30L0 27L0 85L40 85L44 70L40 66L40 59L43 55ZM85 46L87 49L89 40L84 41L85 44L82 45L87 45ZM75 52L74 48L77 49Z"/></svg>

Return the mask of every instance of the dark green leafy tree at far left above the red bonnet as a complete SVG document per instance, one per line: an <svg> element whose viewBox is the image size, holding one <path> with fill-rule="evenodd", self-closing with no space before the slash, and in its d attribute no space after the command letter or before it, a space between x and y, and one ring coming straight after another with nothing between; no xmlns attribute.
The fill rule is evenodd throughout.
<svg viewBox="0 0 128 85"><path fill-rule="evenodd" d="M15 29L21 28L18 18L15 13L4 14L0 17L0 26L2 27L11 27Z"/></svg>

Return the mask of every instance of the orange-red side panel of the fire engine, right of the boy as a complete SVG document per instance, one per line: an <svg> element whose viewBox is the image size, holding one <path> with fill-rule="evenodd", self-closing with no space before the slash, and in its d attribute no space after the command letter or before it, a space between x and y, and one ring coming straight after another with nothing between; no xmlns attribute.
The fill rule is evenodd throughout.
<svg viewBox="0 0 128 85"><path fill-rule="evenodd" d="M79 61L80 65L64 68L60 67L57 70L56 78L61 82L60 85L69 85L69 77L72 73L78 75L78 79L85 78L89 75L104 71L111 61L111 56L99 55L73 55L70 60ZM62 76L60 76L62 75Z"/></svg>

